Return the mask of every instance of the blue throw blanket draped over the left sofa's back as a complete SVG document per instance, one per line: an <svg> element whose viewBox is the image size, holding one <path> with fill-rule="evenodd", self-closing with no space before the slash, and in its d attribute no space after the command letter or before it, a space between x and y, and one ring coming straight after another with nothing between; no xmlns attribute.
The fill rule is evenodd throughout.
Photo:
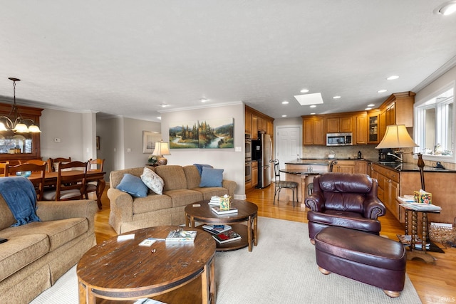
<svg viewBox="0 0 456 304"><path fill-rule="evenodd" d="M36 192L26 177L1 177L0 193L17 220L12 226L40 221L36 215Z"/></svg>

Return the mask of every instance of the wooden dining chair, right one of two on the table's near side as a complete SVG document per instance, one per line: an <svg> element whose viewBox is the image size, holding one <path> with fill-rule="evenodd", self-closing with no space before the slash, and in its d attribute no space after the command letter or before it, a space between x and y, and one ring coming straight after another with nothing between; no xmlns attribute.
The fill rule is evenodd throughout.
<svg viewBox="0 0 456 304"><path fill-rule="evenodd" d="M56 189L46 190L46 201L82 199L86 191L87 162L61 162L58 165Z"/></svg>

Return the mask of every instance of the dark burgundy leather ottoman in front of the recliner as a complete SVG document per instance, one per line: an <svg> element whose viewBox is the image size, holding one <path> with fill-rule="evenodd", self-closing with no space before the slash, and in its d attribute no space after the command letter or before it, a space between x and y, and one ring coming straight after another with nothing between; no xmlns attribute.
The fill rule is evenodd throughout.
<svg viewBox="0 0 456 304"><path fill-rule="evenodd" d="M391 298L404 289L405 249L399 241L342 227L315 236L316 263L323 274L337 273L382 288Z"/></svg>

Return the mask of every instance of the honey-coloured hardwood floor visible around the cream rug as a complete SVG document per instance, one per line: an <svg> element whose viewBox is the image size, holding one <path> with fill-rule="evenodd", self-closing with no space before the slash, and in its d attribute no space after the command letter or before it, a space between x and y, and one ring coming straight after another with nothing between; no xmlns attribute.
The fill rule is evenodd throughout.
<svg viewBox="0 0 456 304"><path fill-rule="evenodd" d="M109 185L106 185L108 189ZM282 195L284 196L284 195ZM287 201L273 205L274 187L254 189L247 193L247 199L258 205L259 216L289 221L307 222L306 210L301 206L291 206ZM95 216L95 234L97 243L115 236L114 229L108 224L109 199L106 190L102 197L103 210ZM380 218L381 234L390 239L397 239L396 234L403 234L403 226L388 212ZM303 236L303 241L309 241ZM445 253L432 253L436 258L435 265L422 260L407 261L407 273L418 291L423 303L456 303L456 248L443 248Z"/></svg>

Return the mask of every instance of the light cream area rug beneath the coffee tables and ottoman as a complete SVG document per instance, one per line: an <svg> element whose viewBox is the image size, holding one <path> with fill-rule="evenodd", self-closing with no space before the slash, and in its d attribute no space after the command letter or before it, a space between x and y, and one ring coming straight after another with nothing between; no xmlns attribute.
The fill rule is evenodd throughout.
<svg viewBox="0 0 456 304"><path fill-rule="evenodd" d="M217 304L421 303L408 276L400 297L390 298L380 288L320 273L307 224L260 217L258 227L252 252L217 253ZM75 266L32 303L78 303L77 284Z"/></svg>

